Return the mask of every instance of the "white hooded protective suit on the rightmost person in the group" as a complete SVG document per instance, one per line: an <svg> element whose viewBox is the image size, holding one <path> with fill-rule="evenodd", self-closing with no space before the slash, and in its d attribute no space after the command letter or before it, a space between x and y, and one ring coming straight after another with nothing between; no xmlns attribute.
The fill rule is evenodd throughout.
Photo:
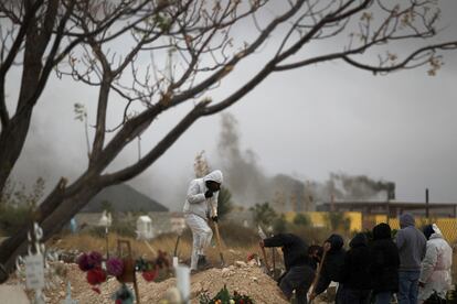
<svg viewBox="0 0 457 304"><path fill-rule="evenodd" d="M426 301L435 291L439 297L446 298L451 285L453 249L436 224L433 224L433 230L435 234L427 241L427 251L422 261L419 282L425 283L425 286L419 287L419 303Z"/></svg>

